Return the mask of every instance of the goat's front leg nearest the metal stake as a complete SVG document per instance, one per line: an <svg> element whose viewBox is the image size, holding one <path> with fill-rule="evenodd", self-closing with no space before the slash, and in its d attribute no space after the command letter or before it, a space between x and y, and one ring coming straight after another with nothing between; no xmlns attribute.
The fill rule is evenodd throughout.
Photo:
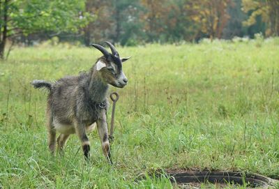
<svg viewBox="0 0 279 189"><path fill-rule="evenodd" d="M110 142L107 135L107 115L105 110L102 111L100 119L97 120L97 128L100 137L100 142L102 144L102 149L107 161L112 165L112 157L110 154Z"/></svg>

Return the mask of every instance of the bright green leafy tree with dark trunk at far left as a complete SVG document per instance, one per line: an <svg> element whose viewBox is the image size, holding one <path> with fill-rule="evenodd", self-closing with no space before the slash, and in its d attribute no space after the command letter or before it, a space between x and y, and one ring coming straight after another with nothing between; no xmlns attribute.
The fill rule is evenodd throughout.
<svg viewBox="0 0 279 189"><path fill-rule="evenodd" d="M80 0L0 0L0 58L8 38L38 31L77 32L92 19Z"/></svg>

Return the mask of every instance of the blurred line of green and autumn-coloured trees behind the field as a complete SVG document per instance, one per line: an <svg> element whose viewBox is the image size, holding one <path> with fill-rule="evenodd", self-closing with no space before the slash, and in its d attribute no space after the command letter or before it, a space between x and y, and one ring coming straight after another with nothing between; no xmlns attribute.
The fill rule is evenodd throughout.
<svg viewBox="0 0 279 189"><path fill-rule="evenodd" d="M0 56L7 40L57 36L84 45L279 35L279 0L0 0Z"/></svg>

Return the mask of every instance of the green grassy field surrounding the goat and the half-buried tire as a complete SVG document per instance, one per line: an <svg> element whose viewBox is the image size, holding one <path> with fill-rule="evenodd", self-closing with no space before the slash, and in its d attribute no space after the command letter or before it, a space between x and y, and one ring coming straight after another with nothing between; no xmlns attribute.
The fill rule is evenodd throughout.
<svg viewBox="0 0 279 189"><path fill-rule="evenodd" d="M89 164L75 135L65 156L50 156L47 92L29 84L89 70L100 52L17 47L0 62L0 188L177 187L147 176L156 169L279 179L279 38L119 47L119 54L133 58L123 65L128 86L110 87L120 94L112 167L96 131Z"/></svg>

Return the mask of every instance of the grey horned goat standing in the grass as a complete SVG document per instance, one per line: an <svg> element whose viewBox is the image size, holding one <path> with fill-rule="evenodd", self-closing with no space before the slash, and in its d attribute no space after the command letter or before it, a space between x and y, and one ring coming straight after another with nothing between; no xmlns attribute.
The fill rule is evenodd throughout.
<svg viewBox="0 0 279 189"><path fill-rule="evenodd" d="M103 53L93 67L78 76L63 77L56 82L33 80L35 89L45 88L50 91L47 98L47 132L48 147L54 154L56 131L61 133L57 138L58 150L63 151L70 134L77 134L82 142L86 160L89 159L90 142L86 135L97 125L102 149L108 162L112 164L110 142L107 135L107 89L108 84L123 88L128 79L122 70L122 63L129 58L121 59L112 43L105 41L112 52L105 47L91 44Z"/></svg>

